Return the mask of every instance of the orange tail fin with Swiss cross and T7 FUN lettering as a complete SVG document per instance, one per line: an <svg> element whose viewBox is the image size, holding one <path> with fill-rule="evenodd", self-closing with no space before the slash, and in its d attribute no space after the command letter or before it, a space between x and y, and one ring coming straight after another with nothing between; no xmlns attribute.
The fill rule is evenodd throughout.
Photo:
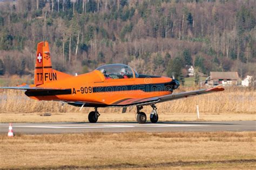
<svg viewBox="0 0 256 170"><path fill-rule="evenodd" d="M38 86L67 77L72 76L52 69L49 43L47 41L39 42L37 44L34 84Z"/></svg>

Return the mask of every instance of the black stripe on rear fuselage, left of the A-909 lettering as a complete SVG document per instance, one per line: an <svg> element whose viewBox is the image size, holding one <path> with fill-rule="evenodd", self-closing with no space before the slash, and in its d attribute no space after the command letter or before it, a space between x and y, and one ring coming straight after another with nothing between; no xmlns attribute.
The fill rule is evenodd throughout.
<svg viewBox="0 0 256 170"><path fill-rule="evenodd" d="M70 94L72 94L71 89L42 90L42 91L27 90L25 92L25 95L27 95L27 96L56 96L56 95L70 95Z"/></svg>

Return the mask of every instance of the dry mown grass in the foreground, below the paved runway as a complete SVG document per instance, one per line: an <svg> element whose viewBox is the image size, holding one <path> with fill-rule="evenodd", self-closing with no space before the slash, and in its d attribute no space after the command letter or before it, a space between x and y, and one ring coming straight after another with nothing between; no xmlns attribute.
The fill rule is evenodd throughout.
<svg viewBox="0 0 256 170"><path fill-rule="evenodd" d="M256 168L256 132L0 135L0 168Z"/></svg>

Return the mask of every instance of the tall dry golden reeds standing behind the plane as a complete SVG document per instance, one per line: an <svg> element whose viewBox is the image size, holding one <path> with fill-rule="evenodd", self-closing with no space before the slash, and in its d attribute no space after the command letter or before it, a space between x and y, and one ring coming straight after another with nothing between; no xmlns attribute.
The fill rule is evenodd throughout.
<svg viewBox="0 0 256 170"><path fill-rule="evenodd" d="M193 90L191 88L180 89L182 91ZM178 92L178 91L177 91ZM0 91L0 113L31 113L31 112L78 112L79 108L70 105L62 106L60 102L36 101L26 97L22 91ZM220 93L200 95L170 102L157 104L158 112L193 113L196 105L199 105L202 113L242 113L256 114L256 91L248 88L226 88ZM90 108L84 108L89 112ZM143 110L150 112L151 107ZM121 112L118 108L105 108L102 112ZM127 112L136 112L135 108L129 108Z"/></svg>

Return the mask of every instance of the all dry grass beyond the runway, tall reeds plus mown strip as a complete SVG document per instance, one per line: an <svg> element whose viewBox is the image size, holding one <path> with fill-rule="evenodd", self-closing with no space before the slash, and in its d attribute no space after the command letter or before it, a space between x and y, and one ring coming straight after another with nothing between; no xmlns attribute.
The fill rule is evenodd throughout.
<svg viewBox="0 0 256 170"><path fill-rule="evenodd" d="M193 90L181 88L183 91ZM60 102L36 101L23 91L0 91L0 122L87 122L87 114L93 108L62 105ZM226 88L220 93L184 98L157 104L159 121L196 121L196 105L199 105L201 121L250 121L256 119L256 91L248 88ZM150 106L143 111L150 114ZM39 116L50 112L52 116ZM135 121L136 107L120 114L120 108L99 108L100 122ZM199 120L199 121L200 121Z"/></svg>

